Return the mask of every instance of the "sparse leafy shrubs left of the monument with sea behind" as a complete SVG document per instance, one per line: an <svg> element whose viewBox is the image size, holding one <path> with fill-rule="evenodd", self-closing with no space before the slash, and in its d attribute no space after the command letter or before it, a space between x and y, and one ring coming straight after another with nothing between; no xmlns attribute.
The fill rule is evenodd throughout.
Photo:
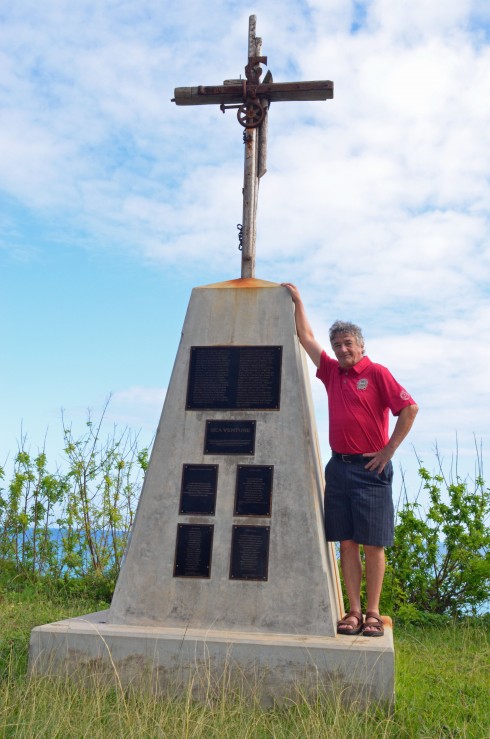
<svg viewBox="0 0 490 739"><path fill-rule="evenodd" d="M47 577L63 587L70 578L92 578L104 597L114 587L148 450L138 449L138 437L127 428L114 427L103 439L103 419L104 413L94 424L89 414L77 438L62 419L66 465L54 473L44 451L32 456L22 438L11 482L0 488L2 570L9 563L17 575Z"/></svg>

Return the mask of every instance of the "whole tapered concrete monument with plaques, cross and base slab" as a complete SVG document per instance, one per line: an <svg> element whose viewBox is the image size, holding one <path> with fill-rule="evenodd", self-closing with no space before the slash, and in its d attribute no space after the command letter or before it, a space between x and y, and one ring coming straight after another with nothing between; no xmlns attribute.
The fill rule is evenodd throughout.
<svg viewBox="0 0 490 739"><path fill-rule="evenodd" d="M108 611L39 626L31 674L94 670L120 684L263 702L336 689L390 704L390 628L337 636L343 604L323 530L323 470L306 357L287 290L255 278L268 108L326 100L328 81L177 88L177 105L237 109L245 165L241 277L194 288L126 556ZM374 643L373 643L374 642Z"/></svg>

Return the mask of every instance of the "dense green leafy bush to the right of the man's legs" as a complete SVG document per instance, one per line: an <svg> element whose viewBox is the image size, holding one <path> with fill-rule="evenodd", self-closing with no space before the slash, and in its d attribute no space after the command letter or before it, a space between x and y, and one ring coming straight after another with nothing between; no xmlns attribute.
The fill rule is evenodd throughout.
<svg viewBox="0 0 490 739"><path fill-rule="evenodd" d="M427 511L406 498L387 550L383 606L400 620L475 615L490 598L490 490L480 472L453 479L437 460L436 474L419 468Z"/></svg>

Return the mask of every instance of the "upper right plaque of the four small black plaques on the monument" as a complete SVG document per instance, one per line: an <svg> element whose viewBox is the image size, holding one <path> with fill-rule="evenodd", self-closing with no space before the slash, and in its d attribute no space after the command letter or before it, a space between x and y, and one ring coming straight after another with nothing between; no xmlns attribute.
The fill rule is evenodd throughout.
<svg viewBox="0 0 490 739"><path fill-rule="evenodd" d="M270 516L274 467L239 464L235 516Z"/></svg>

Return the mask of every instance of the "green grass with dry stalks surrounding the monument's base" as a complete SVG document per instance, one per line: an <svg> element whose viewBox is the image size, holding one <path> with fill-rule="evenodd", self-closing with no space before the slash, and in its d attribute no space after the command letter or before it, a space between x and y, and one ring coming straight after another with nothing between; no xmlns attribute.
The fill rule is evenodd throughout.
<svg viewBox="0 0 490 739"><path fill-rule="evenodd" d="M395 628L396 706L344 708L325 696L262 709L224 692L206 704L26 677L30 630L107 607L81 597L0 591L0 737L490 737L490 621Z"/></svg>

